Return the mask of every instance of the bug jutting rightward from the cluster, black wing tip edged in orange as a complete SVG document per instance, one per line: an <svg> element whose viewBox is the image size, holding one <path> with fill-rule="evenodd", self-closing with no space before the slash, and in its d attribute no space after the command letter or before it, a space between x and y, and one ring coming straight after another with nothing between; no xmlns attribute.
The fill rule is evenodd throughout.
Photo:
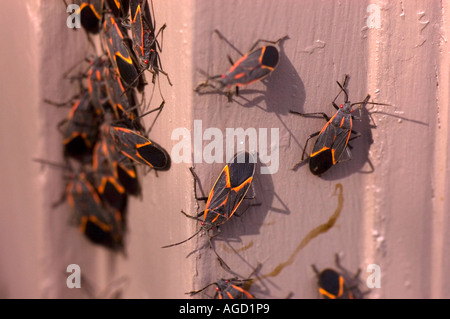
<svg viewBox="0 0 450 319"><path fill-rule="evenodd" d="M167 151L141 133L127 127L111 125L110 134L117 150L133 161L155 170L164 171L170 168L171 161Z"/></svg>

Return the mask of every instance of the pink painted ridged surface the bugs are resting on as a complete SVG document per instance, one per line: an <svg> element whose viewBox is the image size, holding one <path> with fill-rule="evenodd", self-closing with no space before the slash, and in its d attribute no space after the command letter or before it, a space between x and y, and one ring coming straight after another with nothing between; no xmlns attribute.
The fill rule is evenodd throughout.
<svg viewBox="0 0 450 319"><path fill-rule="evenodd" d="M1 11L11 5L2 2ZM62 74L84 58L89 44L82 31L66 28L61 1L20 6L17 23L24 28L15 39L22 41L3 33L2 43L11 46L0 61L2 70L11 70L1 75L8 105L1 109L2 147L14 155L9 162L14 169L5 169L5 163L1 170L3 297L98 296L125 278L117 288L125 298L188 298L186 292L229 277L204 235L177 247L161 246L199 227L180 213L203 207L195 202L189 167L195 166L207 195L228 159L224 149L222 163L207 162L204 155L213 142L208 134L215 138L220 132L225 145L227 129L238 128L262 140L267 133L274 157L260 163L255 174L256 198L250 203L261 205L233 216L213 242L240 277L258 268L253 295L316 298L311 264L333 267L339 253L350 272L361 268L363 288L373 279L369 265L379 266L381 288L367 288L368 298L450 297L447 2L154 1L156 24L167 23L161 59L173 86L160 77L166 106L150 136L171 151L180 142L174 132L188 132L192 154L187 158L197 163L176 163L172 156L168 172L140 172L143 197L129 206L126 256L92 246L67 224L67 207L51 208L64 187L62 173L41 168L32 158L61 159L56 124L66 110L42 100L71 96L74 87ZM8 21L0 23L13 23ZM234 61L240 57L214 29L244 53L259 38L289 35L279 44L273 74L241 88L232 103L224 95L193 91L205 73L229 69L228 55ZM25 50L25 43L31 48ZM370 94L374 102L392 106L368 107L362 121L354 121L362 137L351 142L351 161L322 177L307 165L292 171L307 136L325 121L289 110L332 115L336 81L344 74L350 76L351 101ZM24 81L30 90L23 90ZM152 95L149 86L146 96L159 105L157 88ZM262 140L256 144L260 152ZM273 174L261 173L269 167ZM84 287L91 289L66 287L69 264L80 265ZM29 278L19 279L19 273Z"/></svg>

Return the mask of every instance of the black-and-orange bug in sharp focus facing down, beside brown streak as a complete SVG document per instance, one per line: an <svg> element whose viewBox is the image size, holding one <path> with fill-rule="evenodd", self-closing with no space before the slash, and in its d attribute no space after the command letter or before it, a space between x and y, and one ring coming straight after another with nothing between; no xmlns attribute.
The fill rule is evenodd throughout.
<svg viewBox="0 0 450 319"><path fill-rule="evenodd" d="M163 248L185 243L198 235L202 230L208 232L227 222L235 214L241 202L247 195L253 182L255 166L256 160L253 155L248 152L237 153L227 165L225 165L214 183L207 198L205 210L197 216L191 216L182 211L185 216L201 221L200 229L189 238L175 244L163 246ZM206 198L197 197L196 184L198 177L193 168L190 168L190 170L194 176L195 198L197 200L206 200ZM199 219L201 215L203 215L203 220ZM211 237L209 237L209 241L211 245ZM214 252L217 255L215 250ZM217 257L222 264L225 264L219 255L217 255Z"/></svg>

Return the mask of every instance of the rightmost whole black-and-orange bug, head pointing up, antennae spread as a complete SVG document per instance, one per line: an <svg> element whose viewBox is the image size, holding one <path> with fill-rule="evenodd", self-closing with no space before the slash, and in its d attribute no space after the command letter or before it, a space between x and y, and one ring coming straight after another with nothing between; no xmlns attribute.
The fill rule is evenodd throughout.
<svg viewBox="0 0 450 319"><path fill-rule="evenodd" d="M388 105L382 103L369 102L370 95L368 94L366 98L361 102L351 103L348 100L347 90L345 89L345 84L347 82L348 75L345 76L344 82L341 84L337 82L339 85L340 91L339 94L334 98L331 102L333 107L337 110L337 112L330 118L327 114L323 112L315 112L315 113L299 113L296 111L290 111L290 113L300 115L300 116L312 116L324 117L327 121L327 124L322 128L321 131L315 132L308 136L305 148L303 149L302 159L298 162L293 169L296 169L300 164L302 164L305 160L309 160L309 169L311 173L314 175L321 175L329 170L332 166L336 165L339 162L348 161L352 158L350 152L350 145L348 144L351 140L360 137L361 134L355 132L353 127L353 119L360 119L353 115L353 106L360 105L362 107L366 104L373 105ZM336 99L339 97L340 93L344 92L345 101L344 104L340 104L339 106L335 103ZM354 134L351 136L351 134ZM313 149L309 156L306 157L306 149L310 139L317 137ZM343 155L346 156L343 156Z"/></svg>

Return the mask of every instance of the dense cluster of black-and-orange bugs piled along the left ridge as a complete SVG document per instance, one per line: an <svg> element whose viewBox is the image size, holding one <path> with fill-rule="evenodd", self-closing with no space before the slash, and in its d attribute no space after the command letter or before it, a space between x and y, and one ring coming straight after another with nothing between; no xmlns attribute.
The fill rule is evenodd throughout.
<svg viewBox="0 0 450 319"><path fill-rule="evenodd" d="M171 165L167 151L149 139L151 127L145 129L142 120L153 112L158 116L164 106L163 99L159 107L147 111L144 71L152 74L153 84L166 73L146 0L75 4L90 43L94 46L96 37L102 49L85 59L86 71L69 77L79 83L79 93L70 102L47 100L71 105L58 125L67 162L63 167L70 171L62 200L91 242L124 251L128 197L142 196L137 166L164 171Z"/></svg>

